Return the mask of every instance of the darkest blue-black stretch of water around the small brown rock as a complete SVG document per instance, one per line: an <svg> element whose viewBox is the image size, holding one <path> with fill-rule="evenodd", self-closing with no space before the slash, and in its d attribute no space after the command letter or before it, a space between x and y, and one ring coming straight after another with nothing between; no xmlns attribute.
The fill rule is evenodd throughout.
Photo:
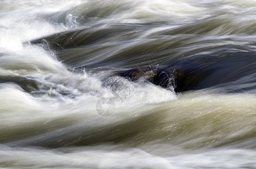
<svg viewBox="0 0 256 169"><path fill-rule="evenodd" d="M210 87L222 87L224 92L242 92L255 88L254 85L246 87L242 85L244 81L251 83L256 81L256 55L249 52L193 57L180 63L173 63L163 66L163 68L130 69L119 73L119 75L131 79L131 81L145 79L163 88L173 87L175 92ZM240 88L226 87L237 86L235 82L237 85L239 83ZM229 85L231 83L232 85Z"/></svg>

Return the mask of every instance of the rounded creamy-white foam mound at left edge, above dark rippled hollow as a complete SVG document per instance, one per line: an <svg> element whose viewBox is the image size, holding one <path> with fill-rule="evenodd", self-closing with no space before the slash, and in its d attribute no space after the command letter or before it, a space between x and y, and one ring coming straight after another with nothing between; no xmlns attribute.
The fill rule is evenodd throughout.
<svg viewBox="0 0 256 169"><path fill-rule="evenodd" d="M53 53L52 53L53 54ZM66 72L67 69L49 52L38 46L27 46L19 52L7 52L0 57L0 67L19 75ZM3 72L0 74L4 75Z"/></svg>

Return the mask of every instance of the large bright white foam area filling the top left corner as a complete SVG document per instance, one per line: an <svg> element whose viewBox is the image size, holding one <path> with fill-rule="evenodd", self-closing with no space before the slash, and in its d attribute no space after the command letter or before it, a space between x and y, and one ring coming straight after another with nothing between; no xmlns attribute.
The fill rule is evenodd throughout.
<svg viewBox="0 0 256 169"><path fill-rule="evenodd" d="M22 43L76 26L75 16L67 16L67 25L47 21L49 14L87 1L3 1L7 12L0 12L0 50L20 51ZM11 15L10 15L11 14ZM69 26L69 27L67 27Z"/></svg>

